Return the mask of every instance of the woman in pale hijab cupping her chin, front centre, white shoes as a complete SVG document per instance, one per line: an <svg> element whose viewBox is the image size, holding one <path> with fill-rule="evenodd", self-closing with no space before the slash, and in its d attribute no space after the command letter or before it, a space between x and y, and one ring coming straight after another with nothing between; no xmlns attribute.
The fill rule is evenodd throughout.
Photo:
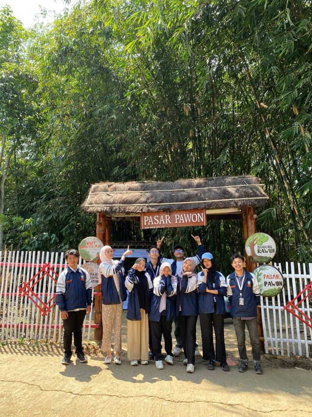
<svg viewBox="0 0 312 417"><path fill-rule="evenodd" d="M156 368L164 369L161 360L161 336L164 335L165 361L174 364L172 353L172 320L176 317L173 299L176 294L176 277L172 276L171 265L164 262L160 265L159 276L154 279L154 294L151 302L149 320L151 322L152 345Z"/></svg>

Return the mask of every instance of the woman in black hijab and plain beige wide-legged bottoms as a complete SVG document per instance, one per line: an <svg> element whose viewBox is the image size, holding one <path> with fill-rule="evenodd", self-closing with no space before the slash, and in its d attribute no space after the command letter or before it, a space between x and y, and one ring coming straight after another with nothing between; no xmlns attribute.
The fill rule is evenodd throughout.
<svg viewBox="0 0 312 417"><path fill-rule="evenodd" d="M130 365L148 365L148 313L153 283L145 270L146 261L138 258L129 270L125 285L129 290L127 335Z"/></svg>

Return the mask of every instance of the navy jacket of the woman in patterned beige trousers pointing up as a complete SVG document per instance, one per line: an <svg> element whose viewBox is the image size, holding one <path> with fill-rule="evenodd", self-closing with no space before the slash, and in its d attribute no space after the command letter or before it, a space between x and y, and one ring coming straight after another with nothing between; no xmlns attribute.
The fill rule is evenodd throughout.
<svg viewBox="0 0 312 417"><path fill-rule="evenodd" d="M119 276L119 283L120 283L120 296L121 301L125 301L127 299L127 290L125 287L125 278L121 271L123 266L123 260L121 259L115 264L114 270L115 273ZM102 286L102 304L110 305L110 304L120 304L118 291L115 285L114 277L113 275L110 275L108 277L105 277L101 273L101 286Z"/></svg>

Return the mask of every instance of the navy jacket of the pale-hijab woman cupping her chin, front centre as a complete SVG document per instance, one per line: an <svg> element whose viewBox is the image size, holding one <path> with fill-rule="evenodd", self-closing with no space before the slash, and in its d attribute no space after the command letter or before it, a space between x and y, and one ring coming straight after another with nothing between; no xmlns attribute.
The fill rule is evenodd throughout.
<svg viewBox="0 0 312 417"><path fill-rule="evenodd" d="M174 277L174 283L172 282L172 276L168 275L166 278L164 275L157 277L154 281L154 293L151 301L151 310L148 315L149 320L159 322L160 320L160 300L164 292L166 292L166 316L167 320L172 320L176 317L175 307L175 294L176 294L176 278ZM160 294L160 295L159 295Z"/></svg>

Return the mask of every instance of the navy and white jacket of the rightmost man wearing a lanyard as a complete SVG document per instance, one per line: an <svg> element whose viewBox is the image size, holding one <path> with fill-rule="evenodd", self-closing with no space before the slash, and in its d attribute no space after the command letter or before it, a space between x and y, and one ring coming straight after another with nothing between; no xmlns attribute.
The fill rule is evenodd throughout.
<svg viewBox="0 0 312 417"><path fill-rule="evenodd" d="M231 303L231 314L233 317L256 317L257 304L260 301L260 292L258 281L253 274L245 271L245 279L242 288L242 298L244 305L239 305L240 290L235 279L235 272L232 272L227 278L228 295ZM255 292L254 292L255 291ZM231 296L231 293L233 294Z"/></svg>

